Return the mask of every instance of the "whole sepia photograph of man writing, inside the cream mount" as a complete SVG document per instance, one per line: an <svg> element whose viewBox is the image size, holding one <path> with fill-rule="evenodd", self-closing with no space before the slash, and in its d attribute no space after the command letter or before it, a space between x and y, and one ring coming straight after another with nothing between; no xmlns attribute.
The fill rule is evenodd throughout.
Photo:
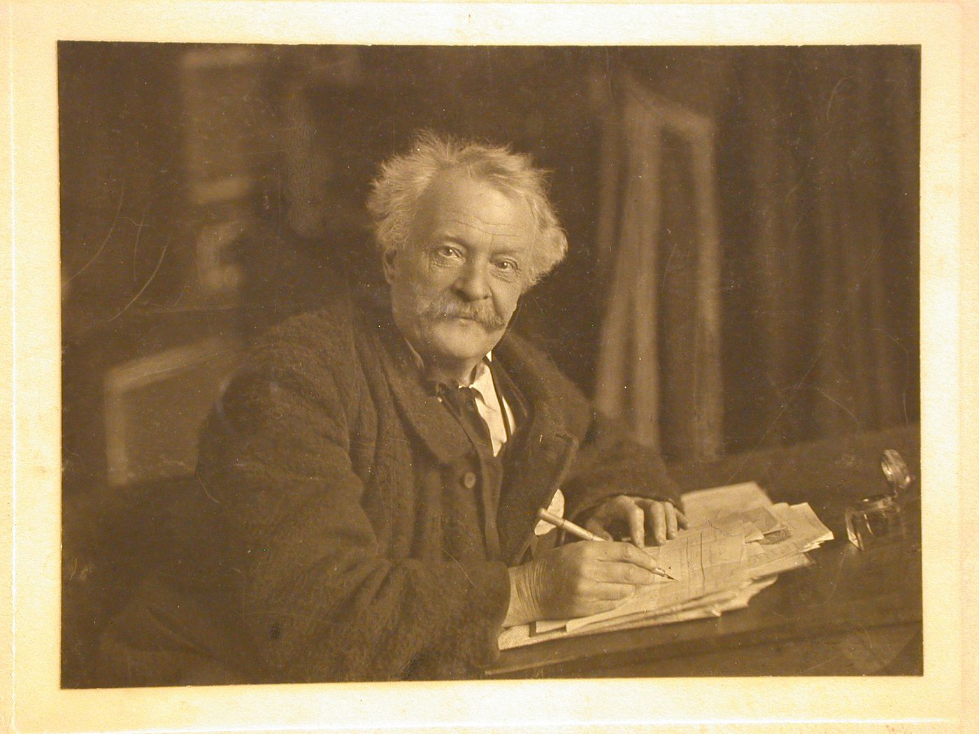
<svg viewBox="0 0 979 734"><path fill-rule="evenodd" d="M922 673L918 47L58 82L63 687Z"/></svg>

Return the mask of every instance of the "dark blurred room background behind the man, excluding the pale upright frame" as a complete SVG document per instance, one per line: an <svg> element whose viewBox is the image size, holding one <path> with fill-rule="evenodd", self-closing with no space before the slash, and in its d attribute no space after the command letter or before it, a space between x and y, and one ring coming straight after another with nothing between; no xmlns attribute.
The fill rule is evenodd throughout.
<svg viewBox="0 0 979 734"><path fill-rule="evenodd" d="M315 307L328 273L368 277L367 184L415 130L511 143L552 171L570 251L516 327L593 390L612 288L596 247L603 125L624 74L716 129L723 449L917 421L916 47L62 42L65 563L82 584L67 661L106 613L84 584L119 578L92 528L111 534L147 492L165 525L240 350ZM681 459L695 273L691 182L671 145L660 421Z"/></svg>

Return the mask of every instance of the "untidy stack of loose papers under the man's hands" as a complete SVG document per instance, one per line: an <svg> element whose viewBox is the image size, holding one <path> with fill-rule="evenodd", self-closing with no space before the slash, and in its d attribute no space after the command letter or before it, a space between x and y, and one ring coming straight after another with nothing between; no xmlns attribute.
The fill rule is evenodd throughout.
<svg viewBox="0 0 979 734"><path fill-rule="evenodd" d="M808 504L772 504L755 482L689 492L683 511L689 529L646 548L676 580L657 578L601 614L504 629L500 649L743 609L775 574L807 566L806 552L833 537Z"/></svg>

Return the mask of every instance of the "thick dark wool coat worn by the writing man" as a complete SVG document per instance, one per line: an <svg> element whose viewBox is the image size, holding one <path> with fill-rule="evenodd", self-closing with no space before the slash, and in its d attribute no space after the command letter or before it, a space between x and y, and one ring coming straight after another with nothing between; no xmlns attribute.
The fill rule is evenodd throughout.
<svg viewBox="0 0 979 734"><path fill-rule="evenodd" d="M507 449L497 558L460 500L479 473L473 445L390 309L338 298L270 332L203 434L210 549L149 580L110 628L117 682L458 678L491 664L507 566L559 483L572 518L615 494L676 496L659 457L599 420L541 352L507 334L493 355L530 411Z"/></svg>

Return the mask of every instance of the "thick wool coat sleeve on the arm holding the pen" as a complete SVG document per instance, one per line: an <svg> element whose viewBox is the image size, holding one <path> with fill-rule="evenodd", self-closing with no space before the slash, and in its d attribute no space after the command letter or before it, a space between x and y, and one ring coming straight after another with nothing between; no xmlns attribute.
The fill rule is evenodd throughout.
<svg viewBox="0 0 979 734"><path fill-rule="evenodd" d="M441 676L472 674L498 655L506 568L385 557L350 460L356 396L317 359L258 359L202 440L199 478L234 536L250 645L295 682L398 679L433 660L456 665Z"/></svg>

